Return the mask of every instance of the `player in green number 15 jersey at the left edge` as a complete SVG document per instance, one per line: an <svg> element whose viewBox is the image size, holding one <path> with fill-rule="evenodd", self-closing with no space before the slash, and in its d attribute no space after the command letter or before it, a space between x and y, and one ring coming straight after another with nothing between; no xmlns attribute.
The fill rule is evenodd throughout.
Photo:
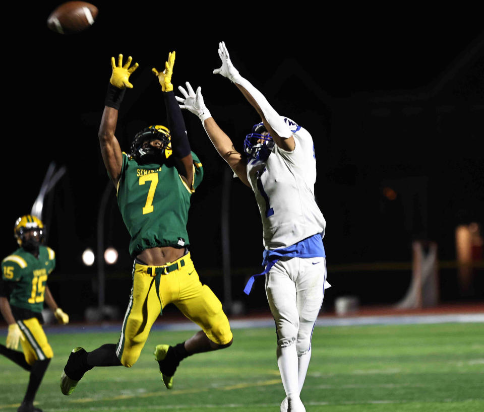
<svg viewBox="0 0 484 412"><path fill-rule="evenodd" d="M2 260L0 311L9 324L7 346L0 344L0 354L30 372L21 412L40 411L33 405L35 394L53 353L42 329L44 301L59 323L69 316L55 303L46 284L55 267L54 251L44 246L44 225L35 216L17 219L14 235L19 248ZM17 351L19 342L23 353Z"/></svg>

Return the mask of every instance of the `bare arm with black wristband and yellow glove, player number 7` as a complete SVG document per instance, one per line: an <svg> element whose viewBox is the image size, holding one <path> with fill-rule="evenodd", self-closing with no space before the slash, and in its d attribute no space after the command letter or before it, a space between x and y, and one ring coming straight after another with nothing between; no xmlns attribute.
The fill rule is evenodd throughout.
<svg viewBox="0 0 484 412"><path fill-rule="evenodd" d="M104 111L98 132L102 159L114 186L117 186L123 165L123 154L119 142L114 135L114 131L116 130L118 110L123 101L126 89L133 88L129 78L138 68L138 63L131 65L132 60L132 57L129 56L123 65L123 54L119 54L116 65L114 57L111 57L112 74L109 79L106 98L104 100Z"/></svg>

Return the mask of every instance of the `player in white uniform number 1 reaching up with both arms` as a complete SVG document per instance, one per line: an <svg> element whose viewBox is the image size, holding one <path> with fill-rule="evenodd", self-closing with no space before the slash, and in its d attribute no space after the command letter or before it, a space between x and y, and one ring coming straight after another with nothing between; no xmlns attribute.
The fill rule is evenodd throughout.
<svg viewBox="0 0 484 412"><path fill-rule="evenodd" d="M316 158L310 133L280 116L233 66L224 42L222 65L213 71L228 78L256 109L262 122L246 136L244 154L217 125L201 88L190 83L177 97L180 107L199 116L211 142L256 196L262 218L266 295L277 328L277 364L286 397L281 411L305 411L299 394L311 358L311 337L326 282L322 238L325 220L316 204ZM258 275L255 275L258 276ZM254 277L245 292L250 293Z"/></svg>

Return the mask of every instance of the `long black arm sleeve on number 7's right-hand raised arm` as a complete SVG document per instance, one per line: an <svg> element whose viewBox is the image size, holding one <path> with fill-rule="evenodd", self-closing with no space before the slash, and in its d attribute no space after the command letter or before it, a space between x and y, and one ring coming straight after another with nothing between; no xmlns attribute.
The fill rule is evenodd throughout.
<svg viewBox="0 0 484 412"><path fill-rule="evenodd" d="M188 156L191 152L190 142L188 141L185 120L181 114L180 106L175 99L175 94L163 92L166 106L166 116L168 117L168 128L171 134L171 149L177 158Z"/></svg>

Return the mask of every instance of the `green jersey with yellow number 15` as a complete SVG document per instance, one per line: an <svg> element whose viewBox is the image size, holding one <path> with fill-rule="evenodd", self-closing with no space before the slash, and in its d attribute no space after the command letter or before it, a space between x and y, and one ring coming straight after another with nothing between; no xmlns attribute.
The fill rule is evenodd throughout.
<svg viewBox="0 0 484 412"><path fill-rule="evenodd" d="M47 277L55 268L55 253L39 246L39 256L18 248L2 260L2 281L12 286L10 304L17 308L42 312Z"/></svg>

